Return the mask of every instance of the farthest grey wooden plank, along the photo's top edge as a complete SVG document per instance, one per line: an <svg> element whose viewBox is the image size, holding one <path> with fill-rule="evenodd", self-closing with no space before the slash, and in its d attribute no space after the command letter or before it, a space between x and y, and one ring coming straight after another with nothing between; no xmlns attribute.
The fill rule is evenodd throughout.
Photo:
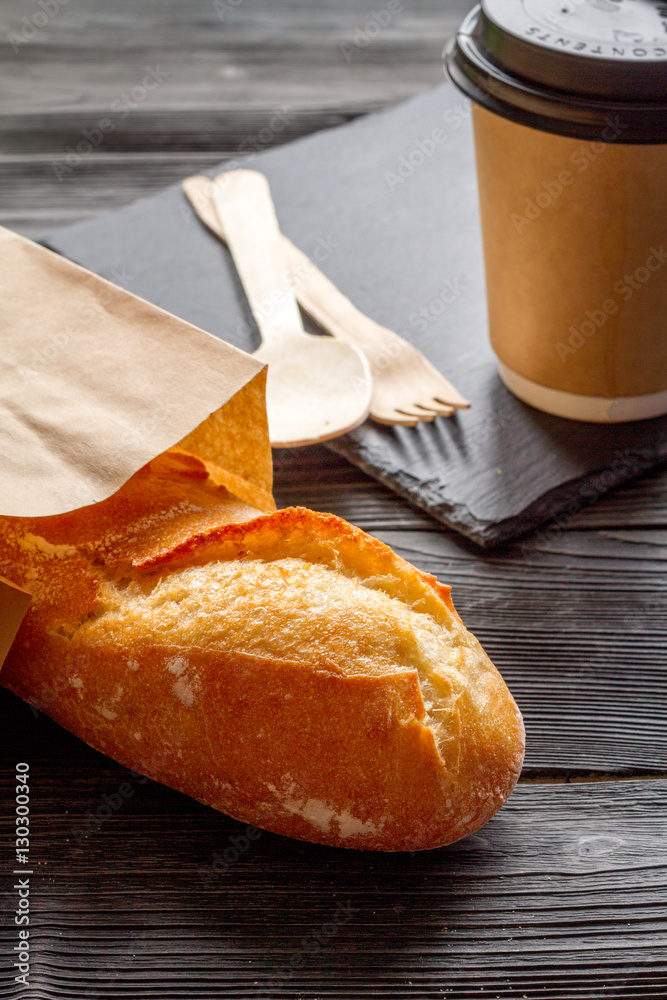
<svg viewBox="0 0 667 1000"><path fill-rule="evenodd" d="M97 113L133 88L151 111L268 107L277 94L299 107L400 100L442 80L443 45L469 6L77 0L45 18L36 3L4 0L3 109ZM158 85L142 95L156 66Z"/></svg>

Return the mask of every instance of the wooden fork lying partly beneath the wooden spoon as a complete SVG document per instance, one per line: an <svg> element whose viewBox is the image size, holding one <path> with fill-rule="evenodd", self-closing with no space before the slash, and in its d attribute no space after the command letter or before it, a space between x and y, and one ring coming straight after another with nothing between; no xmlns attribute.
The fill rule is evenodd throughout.
<svg viewBox="0 0 667 1000"><path fill-rule="evenodd" d="M187 177L183 190L201 221L226 242L211 197L212 183L208 177ZM373 420L414 427L470 406L420 350L364 315L291 240L282 240L299 304L337 340L366 355L373 376Z"/></svg>

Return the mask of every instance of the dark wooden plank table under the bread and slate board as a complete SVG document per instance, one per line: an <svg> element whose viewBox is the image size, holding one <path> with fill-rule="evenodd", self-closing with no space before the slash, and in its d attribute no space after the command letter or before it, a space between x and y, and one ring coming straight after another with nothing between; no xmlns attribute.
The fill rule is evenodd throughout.
<svg viewBox="0 0 667 1000"><path fill-rule="evenodd" d="M37 236L235 155L276 109L286 140L436 84L465 8L3 0L0 221ZM119 101L134 107L63 170ZM250 842L3 692L0 998L667 997L667 470L485 553L324 447L276 453L276 497L453 586L524 712L520 785L442 850ZM32 775L27 989L11 966L16 761Z"/></svg>

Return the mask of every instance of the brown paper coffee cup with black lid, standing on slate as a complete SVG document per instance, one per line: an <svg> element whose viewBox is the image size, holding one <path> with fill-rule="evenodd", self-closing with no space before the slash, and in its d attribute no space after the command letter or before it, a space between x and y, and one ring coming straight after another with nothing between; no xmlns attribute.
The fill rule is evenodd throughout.
<svg viewBox="0 0 667 1000"><path fill-rule="evenodd" d="M501 378L559 416L667 413L667 4L484 0L447 68Z"/></svg>

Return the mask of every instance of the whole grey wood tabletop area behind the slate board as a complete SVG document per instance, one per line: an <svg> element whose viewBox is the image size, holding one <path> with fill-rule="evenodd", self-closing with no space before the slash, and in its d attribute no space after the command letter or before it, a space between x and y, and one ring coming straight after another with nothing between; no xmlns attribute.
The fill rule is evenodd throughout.
<svg viewBox="0 0 667 1000"><path fill-rule="evenodd" d="M126 204L226 154L264 148L262 128L276 111L287 122L271 142L283 142L441 82L444 42L470 7L50 2L58 11L43 27L37 0L0 6L0 221L29 236ZM76 153L84 130L103 119L113 129L59 172L68 148Z"/></svg>

